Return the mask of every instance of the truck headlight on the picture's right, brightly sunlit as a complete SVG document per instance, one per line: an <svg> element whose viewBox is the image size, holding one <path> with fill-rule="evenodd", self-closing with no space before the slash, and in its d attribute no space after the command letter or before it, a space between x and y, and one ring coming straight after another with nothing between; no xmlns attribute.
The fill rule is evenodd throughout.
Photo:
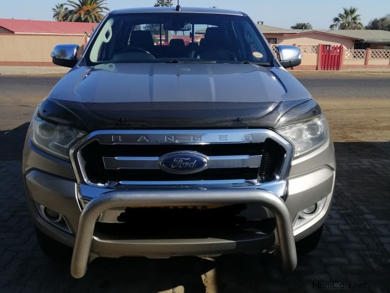
<svg viewBox="0 0 390 293"><path fill-rule="evenodd" d="M277 132L294 146L294 159L323 146L329 140L328 122L323 115L307 122L279 128Z"/></svg>

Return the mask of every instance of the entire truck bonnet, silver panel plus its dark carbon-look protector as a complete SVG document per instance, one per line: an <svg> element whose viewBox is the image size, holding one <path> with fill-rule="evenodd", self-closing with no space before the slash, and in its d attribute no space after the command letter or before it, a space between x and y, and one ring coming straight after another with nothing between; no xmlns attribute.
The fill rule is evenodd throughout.
<svg viewBox="0 0 390 293"><path fill-rule="evenodd" d="M42 103L39 115L86 130L274 128L280 121L286 124L293 108L304 116L312 108L320 113L304 86L281 68L123 63L72 69Z"/></svg>

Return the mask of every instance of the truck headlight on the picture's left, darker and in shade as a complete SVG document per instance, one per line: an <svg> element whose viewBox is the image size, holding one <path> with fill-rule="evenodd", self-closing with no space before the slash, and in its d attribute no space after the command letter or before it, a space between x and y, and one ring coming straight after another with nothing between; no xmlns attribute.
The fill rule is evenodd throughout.
<svg viewBox="0 0 390 293"><path fill-rule="evenodd" d="M31 127L31 141L41 150L69 160L69 148L86 133L68 126L57 125L35 117Z"/></svg>

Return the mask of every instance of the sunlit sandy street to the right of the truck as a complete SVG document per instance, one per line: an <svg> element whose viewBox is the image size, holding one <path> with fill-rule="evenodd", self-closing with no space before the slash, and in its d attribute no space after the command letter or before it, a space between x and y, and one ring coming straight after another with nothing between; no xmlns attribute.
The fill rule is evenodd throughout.
<svg viewBox="0 0 390 293"><path fill-rule="evenodd" d="M320 104L335 142L390 141L390 74L292 74Z"/></svg>

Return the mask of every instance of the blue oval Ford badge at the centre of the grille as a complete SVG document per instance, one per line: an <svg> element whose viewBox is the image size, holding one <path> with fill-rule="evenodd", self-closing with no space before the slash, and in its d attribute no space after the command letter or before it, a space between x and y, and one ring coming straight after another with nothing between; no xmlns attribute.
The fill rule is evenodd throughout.
<svg viewBox="0 0 390 293"><path fill-rule="evenodd" d="M193 174L207 169L207 156L196 151L176 151L163 155L159 167L169 173Z"/></svg>

